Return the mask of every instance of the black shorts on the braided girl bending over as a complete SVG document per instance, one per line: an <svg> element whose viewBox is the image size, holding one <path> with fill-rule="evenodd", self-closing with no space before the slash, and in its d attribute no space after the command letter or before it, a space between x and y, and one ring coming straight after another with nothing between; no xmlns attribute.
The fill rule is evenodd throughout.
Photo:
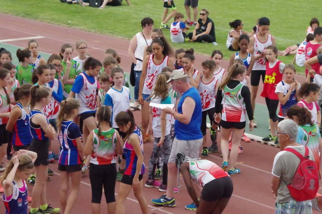
<svg viewBox="0 0 322 214"><path fill-rule="evenodd" d="M233 189L231 177L217 178L204 185L200 198L205 201L218 201L220 198L230 198L232 197Z"/></svg>

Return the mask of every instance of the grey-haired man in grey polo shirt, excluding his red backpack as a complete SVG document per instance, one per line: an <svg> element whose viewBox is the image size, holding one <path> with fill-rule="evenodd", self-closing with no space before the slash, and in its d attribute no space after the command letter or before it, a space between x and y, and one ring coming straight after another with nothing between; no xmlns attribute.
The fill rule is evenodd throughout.
<svg viewBox="0 0 322 214"><path fill-rule="evenodd" d="M311 201L296 201L286 186L292 183L300 158L291 152L283 151L284 148L292 148L301 155L305 153L305 147L296 142L298 125L287 119L281 121L277 127L281 151L274 158L271 180L272 193L276 199L275 213L312 213ZM309 150L309 159L314 160L311 150Z"/></svg>

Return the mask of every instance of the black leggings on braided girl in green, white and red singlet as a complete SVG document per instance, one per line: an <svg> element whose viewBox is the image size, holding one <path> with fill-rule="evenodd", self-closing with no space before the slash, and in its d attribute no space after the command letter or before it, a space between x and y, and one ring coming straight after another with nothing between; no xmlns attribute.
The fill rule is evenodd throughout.
<svg viewBox="0 0 322 214"><path fill-rule="evenodd" d="M92 186L92 203L100 204L102 187L106 203L115 202L116 164L90 164L90 185Z"/></svg>

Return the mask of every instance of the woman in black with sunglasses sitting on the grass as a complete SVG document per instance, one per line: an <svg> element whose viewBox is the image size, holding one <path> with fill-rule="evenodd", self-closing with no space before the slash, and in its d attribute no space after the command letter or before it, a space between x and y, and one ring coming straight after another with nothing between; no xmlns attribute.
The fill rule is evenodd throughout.
<svg viewBox="0 0 322 214"><path fill-rule="evenodd" d="M189 39L194 42L215 42L215 24L213 20L208 18L209 11L206 9L202 9L200 11L200 19L198 19L198 23L193 33L188 33Z"/></svg>

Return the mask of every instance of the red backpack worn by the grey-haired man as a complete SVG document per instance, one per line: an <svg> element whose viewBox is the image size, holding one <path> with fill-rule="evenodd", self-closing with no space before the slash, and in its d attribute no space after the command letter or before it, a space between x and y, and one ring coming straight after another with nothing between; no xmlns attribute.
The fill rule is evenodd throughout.
<svg viewBox="0 0 322 214"><path fill-rule="evenodd" d="M284 151L289 151L300 158L300 163L298 169L296 170L292 183L287 185L289 188L289 193L296 201L307 201L314 199L317 190L319 189L319 175L317 164L309 159L308 147L305 147L305 155L301 155L298 151L286 148Z"/></svg>

